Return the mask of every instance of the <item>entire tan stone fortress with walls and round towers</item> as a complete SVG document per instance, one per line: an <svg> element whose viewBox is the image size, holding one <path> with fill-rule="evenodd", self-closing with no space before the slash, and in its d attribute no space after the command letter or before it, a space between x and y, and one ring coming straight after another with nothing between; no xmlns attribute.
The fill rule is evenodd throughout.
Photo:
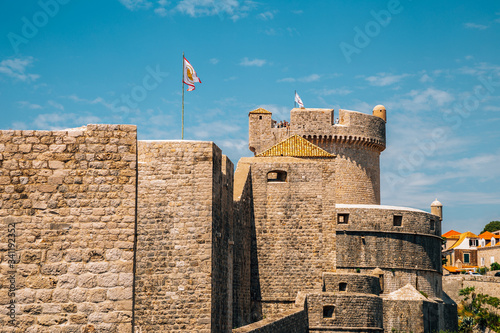
<svg viewBox="0 0 500 333"><path fill-rule="evenodd" d="M0 332L455 329L440 216L380 205L385 108L334 116L250 112L236 170L131 125L0 131Z"/></svg>

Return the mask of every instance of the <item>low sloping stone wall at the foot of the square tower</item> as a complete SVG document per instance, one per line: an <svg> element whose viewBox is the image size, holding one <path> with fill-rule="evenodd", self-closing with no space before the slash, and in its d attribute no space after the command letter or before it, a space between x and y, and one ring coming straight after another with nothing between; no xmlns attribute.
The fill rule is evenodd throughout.
<svg viewBox="0 0 500 333"><path fill-rule="evenodd" d="M307 311L298 308L233 329L233 333L308 333L308 326Z"/></svg>

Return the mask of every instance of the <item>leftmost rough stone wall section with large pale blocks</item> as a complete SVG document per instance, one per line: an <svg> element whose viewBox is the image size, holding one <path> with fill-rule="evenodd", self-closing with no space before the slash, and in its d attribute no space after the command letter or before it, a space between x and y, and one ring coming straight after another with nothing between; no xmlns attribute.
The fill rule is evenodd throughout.
<svg viewBox="0 0 500 333"><path fill-rule="evenodd" d="M0 131L2 332L131 331L135 184L135 126Z"/></svg>

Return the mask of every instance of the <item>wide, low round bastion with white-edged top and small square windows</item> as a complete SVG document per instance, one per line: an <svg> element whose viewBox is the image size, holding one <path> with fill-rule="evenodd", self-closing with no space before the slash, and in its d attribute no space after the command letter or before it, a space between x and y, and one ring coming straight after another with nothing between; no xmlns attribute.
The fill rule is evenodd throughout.
<svg viewBox="0 0 500 333"><path fill-rule="evenodd" d="M337 204L336 212L337 271L370 274L379 268L384 293L410 283L429 296L441 296L441 227L436 216L370 205ZM347 223L340 223L339 215ZM394 216L401 217L401 226L394 225Z"/></svg>

